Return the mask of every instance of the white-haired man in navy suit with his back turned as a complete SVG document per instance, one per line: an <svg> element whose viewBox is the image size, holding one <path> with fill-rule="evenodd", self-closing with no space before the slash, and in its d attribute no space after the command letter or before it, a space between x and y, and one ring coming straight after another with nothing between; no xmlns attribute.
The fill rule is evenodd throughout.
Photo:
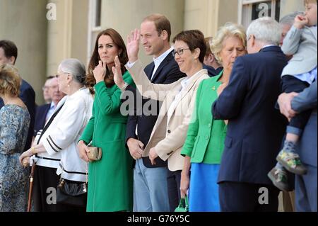
<svg viewBox="0 0 318 226"><path fill-rule="evenodd" d="M247 52L235 61L213 118L229 120L218 176L222 211L277 211L279 190L267 173L276 164L286 120L275 108L287 60L279 24L264 17L247 29Z"/></svg>

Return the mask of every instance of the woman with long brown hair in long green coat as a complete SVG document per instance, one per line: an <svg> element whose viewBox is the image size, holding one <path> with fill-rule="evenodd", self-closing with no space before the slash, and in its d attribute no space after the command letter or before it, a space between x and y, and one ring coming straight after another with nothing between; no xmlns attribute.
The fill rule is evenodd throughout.
<svg viewBox="0 0 318 226"><path fill-rule="evenodd" d="M131 211L133 205L133 159L124 142L127 118L120 112L122 91L112 74L117 55L123 63L124 81L133 84L124 67L128 61L124 40L114 29L102 31L86 79L95 94L93 115L78 142L79 155L86 162L90 142L102 148L102 159L88 167L88 212Z"/></svg>

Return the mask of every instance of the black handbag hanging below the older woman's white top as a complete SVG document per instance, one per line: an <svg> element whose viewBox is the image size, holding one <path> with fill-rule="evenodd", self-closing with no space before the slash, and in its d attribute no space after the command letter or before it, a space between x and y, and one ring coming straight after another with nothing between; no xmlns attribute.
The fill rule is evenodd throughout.
<svg viewBox="0 0 318 226"><path fill-rule="evenodd" d="M57 186L57 203L86 208L87 183L60 179Z"/></svg>

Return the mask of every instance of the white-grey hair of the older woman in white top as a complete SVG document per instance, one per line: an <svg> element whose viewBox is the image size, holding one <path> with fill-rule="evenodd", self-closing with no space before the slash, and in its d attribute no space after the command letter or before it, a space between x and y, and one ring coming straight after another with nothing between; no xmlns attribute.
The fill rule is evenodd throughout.
<svg viewBox="0 0 318 226"><path fill-rule="evenodd" d="M86 69L84 64L77 59L66 59L59 64L59 69L64 73L69 73L78 83L83 84L86 78Z"/></svg>

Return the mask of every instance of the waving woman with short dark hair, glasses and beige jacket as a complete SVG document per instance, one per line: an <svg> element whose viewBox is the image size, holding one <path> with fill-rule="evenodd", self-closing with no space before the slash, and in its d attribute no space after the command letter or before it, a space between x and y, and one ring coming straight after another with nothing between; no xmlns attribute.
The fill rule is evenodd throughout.
<svg viewBox="0 0 318 226"><path fill-rule="evenodd" d="M168 161L167 192L170 210L173 211L180 199L180 178L184 162L180 152L192 118L196 89L203 79L208 79L208 72L202 69L206 43L199 30L186 30L176 35L173 39L173 53L180 71L187 74L187 77L172 84L152 84L138 60L139 38L139 30L134 30L127 40L129 62L126 68L142 96L163 101L148 145L140 154L142 157L149 156L152 164L155 164L157 157ZM122 80L119 65L117 60L116 69L113 68L114 81L124 90L126 84Z"/></svg>

